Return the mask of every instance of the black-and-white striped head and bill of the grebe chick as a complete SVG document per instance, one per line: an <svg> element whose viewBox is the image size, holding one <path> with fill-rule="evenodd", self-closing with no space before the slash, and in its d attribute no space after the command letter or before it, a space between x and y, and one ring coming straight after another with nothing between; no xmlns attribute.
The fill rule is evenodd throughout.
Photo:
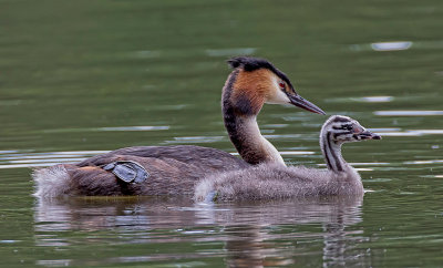
<svg viewBox="0 0 443 268"><path fill-rule="evenodd" d="M357 120L343 115L332 115L324 123L320 135L329 134L334 144L381 140L381 136L364 128Z"/></svg>

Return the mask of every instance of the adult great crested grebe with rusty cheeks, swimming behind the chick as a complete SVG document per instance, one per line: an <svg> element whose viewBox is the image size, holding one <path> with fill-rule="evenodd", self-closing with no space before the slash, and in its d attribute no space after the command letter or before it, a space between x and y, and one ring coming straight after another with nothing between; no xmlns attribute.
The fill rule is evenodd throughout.
<svg viewBox="0 0 443 268"><path fill-rule="evenodd" d="M259 163L285 164L260 134L257 115L265 103L292 104L324 114L295 91L289 79L270 62L238 56L223 87L225 127L243 159L224 151L192 146L137 146L96 155L78 164L60 164L32 174L38 197L174 195L194 193L195 183L214 172Z"/></svg>

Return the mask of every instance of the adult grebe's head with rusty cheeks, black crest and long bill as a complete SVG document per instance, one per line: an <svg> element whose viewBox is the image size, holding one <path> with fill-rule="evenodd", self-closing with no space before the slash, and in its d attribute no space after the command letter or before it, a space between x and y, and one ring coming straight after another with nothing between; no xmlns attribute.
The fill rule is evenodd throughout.
<svg viewBox="0 0 443 268"><path fill-rule="evenodd" d="M324 114L313 103L301 97L285 73L264 59L237 56L228 60L234 69L227 85L230 86L230 101L257 114L264 103L292 104L312 113ZM240 105L240 106L241 106Z"/></svg>

